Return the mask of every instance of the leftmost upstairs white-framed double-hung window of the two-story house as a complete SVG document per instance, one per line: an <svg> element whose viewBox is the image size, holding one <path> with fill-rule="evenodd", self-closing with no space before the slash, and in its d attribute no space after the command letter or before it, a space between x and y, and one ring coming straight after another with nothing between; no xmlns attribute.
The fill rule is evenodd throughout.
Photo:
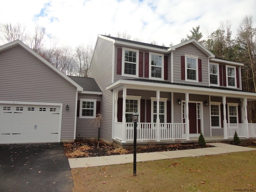
<svg viewBox="0 0 256 192"><path fill-rule="evenodd" d="M122 76L138 77L139 51L130 48L123 48Z"/></svg>

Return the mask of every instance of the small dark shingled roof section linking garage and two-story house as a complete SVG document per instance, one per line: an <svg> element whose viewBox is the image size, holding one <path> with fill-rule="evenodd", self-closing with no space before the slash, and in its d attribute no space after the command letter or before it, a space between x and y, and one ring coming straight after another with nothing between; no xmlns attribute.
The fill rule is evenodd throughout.
<svg viewBox="0 0 256 192"><path fill-rule="evenodd" d="M79 84L84 89L81 93L102 95L102 91L100 90L100 87L98 86L94 78L76 77L76 76L68 76L68 77L72 79L74 82L76 82L77 84Z"/></svg>

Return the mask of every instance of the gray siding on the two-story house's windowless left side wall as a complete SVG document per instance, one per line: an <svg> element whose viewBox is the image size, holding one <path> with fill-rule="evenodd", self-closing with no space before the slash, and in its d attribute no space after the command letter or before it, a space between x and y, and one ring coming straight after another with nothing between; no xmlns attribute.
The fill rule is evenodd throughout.
<svg viewBox="0 0 256 192"><path fill-rule="evenodd" d="M101 114L104 120L100 137L108 141L112 141L113 92L106 90L106 86L112 83L113 47L113 42L98 38L88 73L102 90Z"/></svg>

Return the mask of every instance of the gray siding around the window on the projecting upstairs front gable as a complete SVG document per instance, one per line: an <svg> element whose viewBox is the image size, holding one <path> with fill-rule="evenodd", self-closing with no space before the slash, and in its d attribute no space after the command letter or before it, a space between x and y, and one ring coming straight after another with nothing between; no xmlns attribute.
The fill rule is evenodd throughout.
<svg viewBox="0 0 256 192"><path fill-rule="evenodd" d="M202 60L202 82L195 83L181 80L181 56L184 56L184 54L198 56L198 58ZM177 48L173 53L173 63L174 83L209 86L208 57L193 44L188 44Z"/></svg>

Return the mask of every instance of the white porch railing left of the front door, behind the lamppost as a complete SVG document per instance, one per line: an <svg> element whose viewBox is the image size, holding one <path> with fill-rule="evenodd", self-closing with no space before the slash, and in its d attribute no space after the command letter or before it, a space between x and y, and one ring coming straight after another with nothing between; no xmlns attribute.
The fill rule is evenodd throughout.
<svg viewBox="0 0 256 192"><path fill-rule="evenodd" d="M137 123L137 140L152 141L152 140L176 140L186 139L186 124L185 123L160 123L160 135L157 138L156 123ZM115 138L122 141L134 140L134 123L126 123L125 138L122 138L122 122L115 124Z"/></svg>

